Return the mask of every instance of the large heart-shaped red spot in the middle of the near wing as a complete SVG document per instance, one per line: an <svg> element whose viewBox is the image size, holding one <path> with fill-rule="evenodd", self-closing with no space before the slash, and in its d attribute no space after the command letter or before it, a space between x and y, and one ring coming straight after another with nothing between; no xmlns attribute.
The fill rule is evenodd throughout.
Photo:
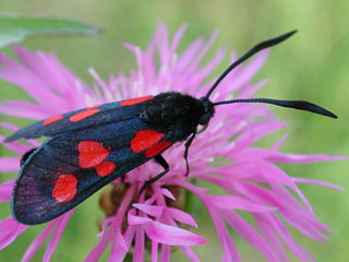
<svg viewBox="0 0 349 262"><path fill-rule="evenodd" d="M79 165L82 168L98 166L109 155L109 148L96 141L82 141L77 147Z"/></svg>

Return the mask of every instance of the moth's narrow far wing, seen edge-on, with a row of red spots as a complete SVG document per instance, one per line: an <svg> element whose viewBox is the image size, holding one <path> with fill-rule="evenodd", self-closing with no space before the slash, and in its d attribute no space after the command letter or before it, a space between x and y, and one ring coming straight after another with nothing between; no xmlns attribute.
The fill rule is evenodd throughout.
<svg viewBox="0 0 349 262"><path fill-rule="evenodd" d="M143 103L152 98L153 96L144 96L55 116L15 132L9 136L5 142L15 141L22 138L37 139L43 135L55 136L98 124L125 121L137 116Z"/></svg>

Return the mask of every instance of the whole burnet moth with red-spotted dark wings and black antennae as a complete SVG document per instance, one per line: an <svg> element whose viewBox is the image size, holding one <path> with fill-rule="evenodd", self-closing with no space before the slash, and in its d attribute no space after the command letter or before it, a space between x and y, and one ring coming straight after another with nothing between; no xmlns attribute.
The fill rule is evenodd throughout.
<svg viewBox="0 0 349 262"><path fill-rule="evenodd" d="M213 84L206 96L194 98L163 93L84 108L55 116L22 129L5 142L49 136L27 152L12 195L12 215L23 224L48 222L73 209L97 190L135 167L155 159L164 171L146 181L139 195L169 170L161 152L185 142L184 158L198 126L206 127L215 107L233 103L265 103L337 118L330 111L303 100L269 98L213 103L210 94L237 66L262 49L277 45L296 31L262 41L234 61Z"/></svg>

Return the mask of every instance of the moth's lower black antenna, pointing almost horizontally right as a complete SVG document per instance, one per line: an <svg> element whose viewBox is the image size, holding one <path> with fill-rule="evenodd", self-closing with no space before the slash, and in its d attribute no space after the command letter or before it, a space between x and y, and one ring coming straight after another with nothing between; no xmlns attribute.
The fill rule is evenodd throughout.
<svg viewBox="0 0 349 262"><path fill-rule="evenodd" d="M327 109L317 106L313 103L310 102L304 102L304 100L277 100L277 99L269 99L269 98L250 98L250 99L233 99L233 100L226 100L226 102L218 102L214 103L214 106L219 106L219 105L227 105L227 104L233 104L233 103L264 103L264 104L270 104L270 105L276 105L280 107L289 107L289 108L294 108L299 110L304 110L304 111L311 111L315 112L322 116L330 117L330 118L337 118L337 116Z"/></svg>

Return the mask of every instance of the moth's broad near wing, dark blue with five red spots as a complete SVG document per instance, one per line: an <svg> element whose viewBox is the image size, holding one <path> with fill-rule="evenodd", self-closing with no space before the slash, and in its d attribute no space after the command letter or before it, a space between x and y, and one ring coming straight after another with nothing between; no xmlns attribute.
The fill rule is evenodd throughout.
<svg viewBox="0 0 349 262"><path fill-rule="evenodd" d="M13 217L29 225L50 221L171 144L140 117L56 135L22 166Z"/></svg>

